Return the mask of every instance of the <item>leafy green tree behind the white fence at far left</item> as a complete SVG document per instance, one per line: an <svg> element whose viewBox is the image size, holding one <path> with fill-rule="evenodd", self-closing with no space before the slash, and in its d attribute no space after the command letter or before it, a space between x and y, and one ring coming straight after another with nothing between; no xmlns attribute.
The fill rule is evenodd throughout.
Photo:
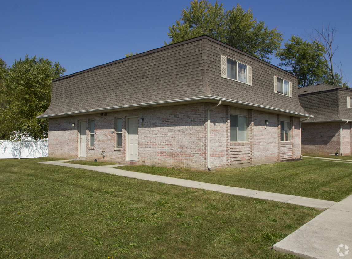
<svg viewBox="0 0 352 259"><path fill-rule="evenodd" d="M1 94L5 98L5 107L0 109L0 134L6 139L48 137L48 121L36 116L49 107L51 80L66 71L57 62L35 56L13 63L4 77Z"/></svg>

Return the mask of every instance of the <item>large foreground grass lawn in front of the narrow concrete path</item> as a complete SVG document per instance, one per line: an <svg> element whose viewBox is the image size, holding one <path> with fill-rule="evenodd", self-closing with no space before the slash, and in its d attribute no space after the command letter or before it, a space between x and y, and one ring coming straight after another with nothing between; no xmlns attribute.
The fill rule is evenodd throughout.
<svg viewBox="0 0 352 259"><path fill-rule="evenodd" d="M1 258L292 258L270 247L321 213L44 160L0 160Z"/></svg>

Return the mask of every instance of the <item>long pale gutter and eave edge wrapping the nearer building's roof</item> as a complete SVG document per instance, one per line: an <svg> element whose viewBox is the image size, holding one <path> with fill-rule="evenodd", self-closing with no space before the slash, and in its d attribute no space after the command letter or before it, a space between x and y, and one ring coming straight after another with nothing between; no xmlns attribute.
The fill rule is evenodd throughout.
<svg viewBox="0 0 352 259"><path fill-rule="evenodd" d="M50 115L44 115L44 116L39 115L39 116L36 116L36 118L38 118L38 119L48 119L48 118L73 116L73 115L81 115L81 114L92 114L92 113L101 113L101 112L114 112L114 111L117 111L117 110L126 110L126 109L131 109L131 108L132 109L151 108L151 107L155 107L155 106L158 106L158 105L166 105L166 104L173 104L173 103L180 103L180 102L208 101L208 100L214 100L214 101L220 101L221 100L222 102L228 102L228 103L231 103L231 104L249 106L247 109L250 109L250 107L254 107L254 108L261 108L261 109L265 109L265 110L271 110L271 111L275 111L275 112L282 112L282 113L298 115L300 117L305 117L305 118L313 117L313 115L309 115L309 114L296 113L296 112L291 112L289 110L277 109L277 108L274 108L274 107L269 107L269 106L264 106L264 105L257 105L257 104L249 103L249 102L235 101L235 100L226 99L226 98L220 98L220 97L216 97L216 96L199 96L199 97L191 97L191 98L184 98L184 99L177 99L177 100L168 100L168 101L159 101L159 102L150 102L150 103L139 103L139 104L135 104L135 105L124 105L124 106L115 106L115 107L107 107L107 108L100 108L100 109L80 110L80 111L77 111L77 112L58 113L58 114L50 114Z"/></svg>

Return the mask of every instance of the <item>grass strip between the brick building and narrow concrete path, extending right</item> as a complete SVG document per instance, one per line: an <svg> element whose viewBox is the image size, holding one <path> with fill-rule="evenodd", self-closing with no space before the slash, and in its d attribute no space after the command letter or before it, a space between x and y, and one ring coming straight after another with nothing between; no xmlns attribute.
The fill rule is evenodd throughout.
<svg viewBox="0 0 352 259"><path fill-rule="evenodd" d="M145 165L118 169L330 201L352 193L351 164L313 158L212 171Z"/></svg>

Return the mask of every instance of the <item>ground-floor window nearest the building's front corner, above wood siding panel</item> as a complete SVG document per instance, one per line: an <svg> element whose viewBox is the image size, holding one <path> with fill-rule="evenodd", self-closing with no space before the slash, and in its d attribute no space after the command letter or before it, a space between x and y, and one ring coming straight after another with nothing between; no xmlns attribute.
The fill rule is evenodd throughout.
<svg viewBox="0 0 352 259"><path fill-rule="evenodd" d="M230 116L230 140L235 142L248 141L248 117Z"/></svg>

